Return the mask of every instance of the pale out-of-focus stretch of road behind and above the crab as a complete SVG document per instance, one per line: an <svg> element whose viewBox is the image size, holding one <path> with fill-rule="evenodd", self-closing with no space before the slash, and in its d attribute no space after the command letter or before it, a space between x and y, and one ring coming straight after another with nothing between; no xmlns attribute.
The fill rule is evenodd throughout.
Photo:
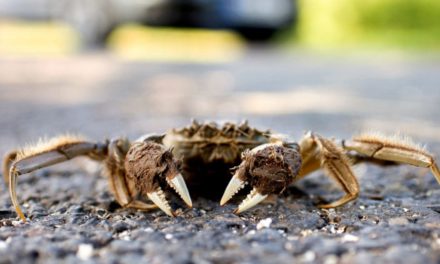
<svg viewBox="0 0 440 264"><path fill-rule="evenodd" d="M124 61L105 53L0 58L0 151L75 132L100 140L201 120L249 119L294 138L360 130L440 141L440 60L250 49L230 63ZM440 152L440 151L439 151Z"/></svg>

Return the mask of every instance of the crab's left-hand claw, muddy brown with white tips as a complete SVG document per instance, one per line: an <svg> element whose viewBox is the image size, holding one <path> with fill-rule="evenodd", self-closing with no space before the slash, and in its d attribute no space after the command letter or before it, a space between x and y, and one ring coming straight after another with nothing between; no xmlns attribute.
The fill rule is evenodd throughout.
<svg viewBox="0 0 440 264"><path fill-rule="evenodd" d="M174 216L174 212L162 189L167 185L192 207L180 167L181 162L174 158L171 149L152 141L134 143L125 158L127 176L138 186L140 194L147 196L169 216Z"/></svg>

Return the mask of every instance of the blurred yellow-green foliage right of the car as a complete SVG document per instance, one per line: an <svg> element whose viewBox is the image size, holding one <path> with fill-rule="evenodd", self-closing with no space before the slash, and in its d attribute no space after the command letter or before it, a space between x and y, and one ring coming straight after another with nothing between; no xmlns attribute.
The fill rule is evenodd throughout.
<svg viewBox="0 0 440 264"><path fill-rule="evenodd" d="M299 0L295 39L315 48L440 50L439 0Z"/></svg>

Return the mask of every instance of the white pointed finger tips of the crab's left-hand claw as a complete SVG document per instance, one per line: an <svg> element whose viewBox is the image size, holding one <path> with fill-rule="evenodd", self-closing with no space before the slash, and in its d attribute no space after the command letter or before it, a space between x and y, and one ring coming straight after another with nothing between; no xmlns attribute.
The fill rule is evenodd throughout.
<svg viewBox="0 0 440 264"><path fill-rule="evenodd" d="M183 179L181 174L178 174L173 179L168 180L168 185L173 188L176 193L182 198L182 200L191 208L192 201L191 196L189 195L188 188L186 187L185 180ZM168 203L165 193L162 188L158 188L156 191L147 193L148 198L156 204L162 211L164 211L169 216L175 216L174 212L171 210L171 206Z"/></svg>

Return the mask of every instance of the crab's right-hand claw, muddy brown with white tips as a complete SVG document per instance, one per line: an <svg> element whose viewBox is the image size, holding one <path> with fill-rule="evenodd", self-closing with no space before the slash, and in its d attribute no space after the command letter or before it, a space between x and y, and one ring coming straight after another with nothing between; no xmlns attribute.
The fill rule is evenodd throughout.
<svg viewBox="0 0 440 264"><path fill-rule="evenodd" d="M226 187L220 205L227 203L246 184L250 184L251 192L234 213L248 210L270 194L283 192L299 174L300 168L301 154L296 144L267 143L245 151L241 164Z"/></svg>

